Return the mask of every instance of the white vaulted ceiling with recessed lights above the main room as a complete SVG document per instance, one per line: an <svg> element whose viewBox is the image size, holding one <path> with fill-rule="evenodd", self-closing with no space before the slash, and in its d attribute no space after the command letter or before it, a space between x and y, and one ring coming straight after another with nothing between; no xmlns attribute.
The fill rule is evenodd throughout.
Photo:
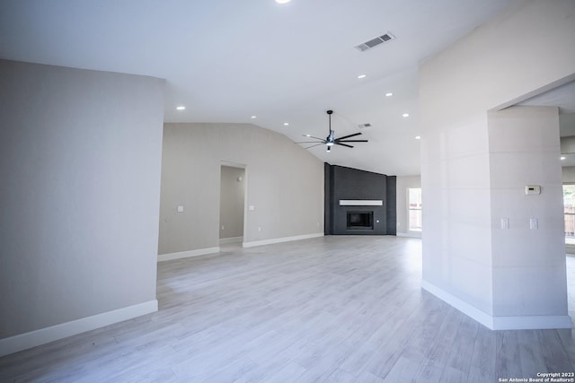
<svg viewBox="0 0 575 383"><path fill-rule="evenodd" d="M320 146L314 155L414 175L419 63L511 3L2 0L0 57L164 78L166 122L253 123L302 141L303 134L327 135L325 111L333 109L336 136L370 123L358 137L369 143L331 153ZM387 31L396 39L354 48ZM388 91L394 96L385 97Z"/></svg>

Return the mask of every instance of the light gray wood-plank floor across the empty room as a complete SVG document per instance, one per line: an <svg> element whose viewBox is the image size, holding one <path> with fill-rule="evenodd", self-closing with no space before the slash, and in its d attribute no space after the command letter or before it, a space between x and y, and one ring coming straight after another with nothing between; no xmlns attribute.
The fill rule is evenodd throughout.
<svg viewBox="0 0 575 383"><path fill-rule="evenodd" d="M497 382L574 370L572 330L490 331L420 289L420 258L420 239L325 237L164 262L158 312L6 356L0 381Z"/></svg>

